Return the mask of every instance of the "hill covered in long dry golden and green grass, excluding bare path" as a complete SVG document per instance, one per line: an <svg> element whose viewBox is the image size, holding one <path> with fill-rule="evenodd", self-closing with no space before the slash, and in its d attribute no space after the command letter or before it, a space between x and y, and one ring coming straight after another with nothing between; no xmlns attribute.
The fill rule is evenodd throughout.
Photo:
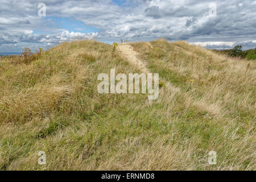
<svg viewBox="0 0 256 182"><path fill-rule="evenodd" d="M109 44L0 60L0 169L255 170L255 62L185 42L150 44L130 45L164 82L154 101L97 92L100 73L141 72Z"/></svg>

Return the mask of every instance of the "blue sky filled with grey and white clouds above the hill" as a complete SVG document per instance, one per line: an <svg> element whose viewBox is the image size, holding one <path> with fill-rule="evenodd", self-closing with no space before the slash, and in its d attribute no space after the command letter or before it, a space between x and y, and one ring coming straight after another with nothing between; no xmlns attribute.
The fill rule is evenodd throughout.
<svg viewBox="0 0 256 182"><path fill-rule="evenodd" d="M1 0L0 52L62 42L166 38L210 49L256 47L253 0Z"/></svg>

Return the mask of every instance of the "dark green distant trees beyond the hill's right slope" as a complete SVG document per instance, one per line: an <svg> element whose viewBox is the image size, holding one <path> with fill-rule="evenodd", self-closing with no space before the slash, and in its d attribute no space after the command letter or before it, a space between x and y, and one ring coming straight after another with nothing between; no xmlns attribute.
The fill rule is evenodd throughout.
<svg viewBox="0 0 256 182"><path fill-rule="evenodd" d="M247 60L256 60L256 48L249 49L247 51L242 51L242 46L235 46L233 49L227 49L227 50L213 49L213 51L224 53L225 55L228 55L231 57L241 57Z"/></svg>

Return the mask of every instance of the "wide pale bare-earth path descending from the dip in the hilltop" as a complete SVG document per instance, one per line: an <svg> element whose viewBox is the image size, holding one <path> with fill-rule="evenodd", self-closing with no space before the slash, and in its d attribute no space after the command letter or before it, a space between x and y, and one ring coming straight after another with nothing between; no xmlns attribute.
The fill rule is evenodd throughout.
<svg viewBox="0 0 256 182"><path fill-rule="evenodd" d="M130 64L133 64L135 67L141 69L144 73L149 73L146 63L138 59L138 52L134 51L133 47L130 45L119 45L117 50L129 61Z"/></svg>

